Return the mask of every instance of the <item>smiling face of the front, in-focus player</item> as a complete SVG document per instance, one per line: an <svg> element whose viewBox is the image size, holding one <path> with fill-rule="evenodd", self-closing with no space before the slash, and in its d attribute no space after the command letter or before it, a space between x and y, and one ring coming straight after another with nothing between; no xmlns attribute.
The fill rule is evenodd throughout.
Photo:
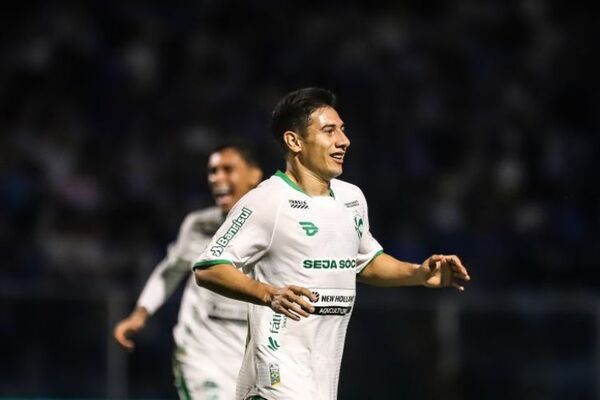
<svg viewBox="0 0 600 400"><path fill-rule="evenodd" d="M350 140L336 110L331 107L315 110L302 141L302 164L327 181L341 175Z"/></svg>

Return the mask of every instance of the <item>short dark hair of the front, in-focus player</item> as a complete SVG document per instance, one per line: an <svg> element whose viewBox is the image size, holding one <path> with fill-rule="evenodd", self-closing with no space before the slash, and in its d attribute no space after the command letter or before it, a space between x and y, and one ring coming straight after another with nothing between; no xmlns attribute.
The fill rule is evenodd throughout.
<svg viewBox="0 0 600 400"><path fill-rule="evenodd" d="M306 135L310 115L321 107L335 108L336 105L335 94L327 89L309 87L286 94L273 109L271 130L275 140L287 151L283 141L285 131Z"/></svg>

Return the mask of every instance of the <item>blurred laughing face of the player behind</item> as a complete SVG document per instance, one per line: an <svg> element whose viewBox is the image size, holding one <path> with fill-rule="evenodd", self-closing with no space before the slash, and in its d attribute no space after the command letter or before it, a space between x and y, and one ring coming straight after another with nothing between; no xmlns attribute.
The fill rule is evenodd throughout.
<svg viewBox="0 0 600 400"><path fill-rule="evenodd" d="M208 159L208 186L217 206L229 212L250 189L258 185L261 171L248 165L233 148L211 154Z"/></svg>

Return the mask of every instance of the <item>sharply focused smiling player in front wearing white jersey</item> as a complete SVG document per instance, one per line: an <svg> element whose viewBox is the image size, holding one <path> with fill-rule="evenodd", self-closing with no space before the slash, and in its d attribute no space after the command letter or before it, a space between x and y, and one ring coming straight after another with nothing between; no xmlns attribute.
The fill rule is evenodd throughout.
<svg viewBox="0 0 600 400"><path fill-rule="evenodd" d="M469 280L454 255L412 264L383 253L363 193L335 179L350 146L335 107L319 88L279 101L286 171L240 199L194 263L200 286L251 303L237 399L336 399L357 280L458 290Z"/></svg>

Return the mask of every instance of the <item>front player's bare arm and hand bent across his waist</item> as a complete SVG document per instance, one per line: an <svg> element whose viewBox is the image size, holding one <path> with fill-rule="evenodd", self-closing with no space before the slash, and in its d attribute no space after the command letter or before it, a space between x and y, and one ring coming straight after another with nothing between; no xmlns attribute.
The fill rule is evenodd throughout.
<svg viewBox="0 0 600 400"><path fill-rule="evenodd" d="M199 286L232 299L270 307L295 321L314 312L306 300L317 300L310 290L293 285L276 288L244 275L231 264L196 269L194 275Z"/></svg>

